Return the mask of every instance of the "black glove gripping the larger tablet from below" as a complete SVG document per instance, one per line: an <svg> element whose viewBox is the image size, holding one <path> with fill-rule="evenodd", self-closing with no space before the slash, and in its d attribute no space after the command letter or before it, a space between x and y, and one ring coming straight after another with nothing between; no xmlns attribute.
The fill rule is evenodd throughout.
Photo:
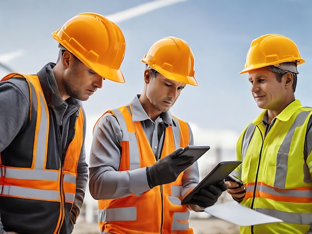
<svg viewBox="0 0 312 234"><path fill-rule="evenodd" d="M224 181L209 185L207 189L201 189L200 193L195 194L187 204L195 204L203 208L212 206L217 202L218 198L225 190L226 184Z"/></svg>

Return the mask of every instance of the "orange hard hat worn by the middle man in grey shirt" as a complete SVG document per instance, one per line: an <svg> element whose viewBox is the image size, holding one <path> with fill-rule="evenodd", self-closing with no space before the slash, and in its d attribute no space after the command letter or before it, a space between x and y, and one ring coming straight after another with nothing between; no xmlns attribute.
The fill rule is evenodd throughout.
<svg viewBox="0 0 312 234"><path fill-rule="evenodd" d="M194 56L182 39L169 36L156 41L141 61L169 80L197 86Z"/></svg>

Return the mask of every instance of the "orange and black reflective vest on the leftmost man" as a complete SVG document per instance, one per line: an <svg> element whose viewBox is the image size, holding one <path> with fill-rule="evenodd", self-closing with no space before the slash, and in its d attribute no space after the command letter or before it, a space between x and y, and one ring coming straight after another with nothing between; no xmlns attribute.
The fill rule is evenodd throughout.
<svg viewBox="0 0 312 234"><path fill-rule="evenodd" d="M38 76L12 73L1 81L12 77L25 78L28 83L30 117L23 132L1 152L1 221L4 230L16 227L14 231L21 230L22 233L57 234L65 214L69 217L75 200L76 168L83 143L83 113L80 108L74 136L61 162L60 155L48 154L48 140L56 142L56 139L49 138L49 130L54 129L50 129L51 119ZM29 148L31 150L27 150ZM18 161L24 160L29 161L31 166L8 165L8 157L10 162L15 160L18 164ZM47 160L56 160L59 168L47 168ZM29 208L28 212L18 216L24 207Z"/></svg>

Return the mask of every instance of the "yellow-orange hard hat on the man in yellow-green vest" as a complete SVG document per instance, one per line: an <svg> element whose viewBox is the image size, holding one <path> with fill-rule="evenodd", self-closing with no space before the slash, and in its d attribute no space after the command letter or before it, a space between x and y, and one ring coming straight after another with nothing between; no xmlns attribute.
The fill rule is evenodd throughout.
<svg viewBox="0 0 312 234"><path fill-rule="evenodd" d="M290 38L279 34L267 34L254 39L247 53L245 69L239 74L281 63L303 64L299 49ZM297 69L295 69L297 71ZM296 73L296 72L295 72ZM297 72L298 73L298 72Z"/></svg>

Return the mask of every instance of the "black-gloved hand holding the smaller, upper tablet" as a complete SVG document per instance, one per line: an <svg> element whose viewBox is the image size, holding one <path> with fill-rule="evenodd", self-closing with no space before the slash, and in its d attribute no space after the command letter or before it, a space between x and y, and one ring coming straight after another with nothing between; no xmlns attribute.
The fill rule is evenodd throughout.
<svg viewBox="0 0 312 234"><path fill-rule="evenodd" d="M159 159L154 165L147 167L146 174L151 188L171 183L178 175L193 164L192 155L179 156L182 148L178 148L171 154Z"/></svg>

